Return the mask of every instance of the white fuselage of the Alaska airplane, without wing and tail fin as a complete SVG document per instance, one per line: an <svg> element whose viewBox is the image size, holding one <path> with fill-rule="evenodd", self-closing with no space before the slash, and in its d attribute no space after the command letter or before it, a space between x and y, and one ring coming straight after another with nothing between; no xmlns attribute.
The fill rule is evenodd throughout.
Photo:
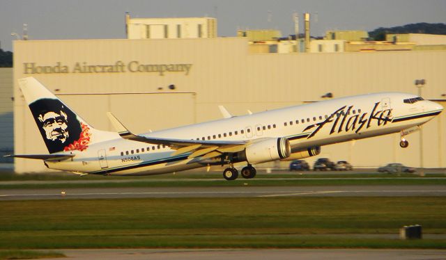
<svg viewBox="0 0 446 260"><path fill-rule="evenodd" d="M292 152L397 133L431 120L443 107L426 100L404 100L417 96L382 92L319 101L192 124L142 136L182 140L255 140L286 137ZM91 174L162 174L203 167L215 159L188 159L190 153L171 156L174 149L125 140L118 133L94 143L88 150L73 152L72 159L45 161L49 168Z"/></svg>

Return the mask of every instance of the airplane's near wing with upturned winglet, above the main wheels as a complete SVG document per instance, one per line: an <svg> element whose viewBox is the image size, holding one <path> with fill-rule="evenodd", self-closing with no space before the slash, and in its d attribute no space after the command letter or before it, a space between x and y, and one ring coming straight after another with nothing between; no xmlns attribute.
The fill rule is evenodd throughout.
<svg viewBox="0 0 446 260"><path fill-rule="evenodd" d="M154 145L165 145L176 151L172 156L192 152L189 158L204 156L206 159L219 156L224 152L240 152L249 145L250 141L225 141L225 140L183 140L171 138L153 138L146 136L138 136L131 133L119 120L112 114L107 113L109 120L112 122L119 136L127 140L133 140L142 143L150 143Z"/></svg>

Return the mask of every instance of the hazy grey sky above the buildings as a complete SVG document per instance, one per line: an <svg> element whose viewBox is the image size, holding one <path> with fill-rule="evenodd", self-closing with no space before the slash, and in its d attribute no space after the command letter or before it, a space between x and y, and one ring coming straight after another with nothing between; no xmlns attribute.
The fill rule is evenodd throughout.
<svg viewBox="0 0 446 260"><path fill-rule="evenodd" d="M0 47L27 24L29 40L125 38L131 17L217 17L220 37L238 29L294 33L293 13L312 15L313 36L328 30L365 30L417 22L446 23L446 0L0 0Z"/></svg>

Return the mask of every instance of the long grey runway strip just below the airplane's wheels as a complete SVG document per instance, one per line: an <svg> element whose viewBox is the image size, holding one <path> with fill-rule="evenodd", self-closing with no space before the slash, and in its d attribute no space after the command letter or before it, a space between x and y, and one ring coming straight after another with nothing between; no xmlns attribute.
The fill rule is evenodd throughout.
<svg viewBox="0 0 446 260"><path fill-rule="evenodd" d="M139 188L27 188L0 190L0 200L118 199L146 197L383 197L446 196L445 185L218 186Z"/></svg>

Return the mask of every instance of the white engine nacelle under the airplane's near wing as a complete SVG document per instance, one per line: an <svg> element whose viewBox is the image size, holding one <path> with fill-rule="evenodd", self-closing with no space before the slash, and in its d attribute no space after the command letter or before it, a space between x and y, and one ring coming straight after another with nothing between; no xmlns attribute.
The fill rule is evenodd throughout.
<svg viewBox="0 0 446 260"><path fill-rule="evenodd" d="M236 161L248 163L266 163L285 159L291 154L290 141L287 138L269 138L246 147L243 152L236 154Z"/></svg>

